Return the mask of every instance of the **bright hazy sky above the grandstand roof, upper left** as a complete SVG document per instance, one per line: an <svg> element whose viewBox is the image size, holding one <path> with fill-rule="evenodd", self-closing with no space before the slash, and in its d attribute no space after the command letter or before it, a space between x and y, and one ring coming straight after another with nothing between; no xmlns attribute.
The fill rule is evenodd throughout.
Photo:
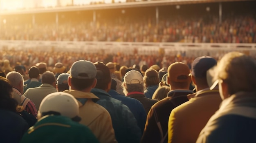
<svg viewBox="0 0 256 143"><path fill-rule="evenodd" d="M72 4L72 0L0 0L0 10L8 9L15 10L21 8L33 8L33 7L55 7L57 4L66 6ZM99 2L104 0L74 0L75 5L90 4L90 2ZM116 2L126 2L126 0L115 0ZM105 0L105 3L111 3L112 0Z"/></svg>

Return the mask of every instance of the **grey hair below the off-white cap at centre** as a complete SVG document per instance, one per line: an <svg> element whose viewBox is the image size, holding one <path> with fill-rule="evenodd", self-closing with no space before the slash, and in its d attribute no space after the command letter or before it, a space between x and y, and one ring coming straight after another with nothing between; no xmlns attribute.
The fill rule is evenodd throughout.
<svg viewBox="0 0 256 143"><path fill-rule="evenodd" d="M126 86L124 86L124 82L122 84L122 88L124 91L124 94L127 95L129 92L142 92L144 93L144 85L142 84L126 84Z"/></svg>

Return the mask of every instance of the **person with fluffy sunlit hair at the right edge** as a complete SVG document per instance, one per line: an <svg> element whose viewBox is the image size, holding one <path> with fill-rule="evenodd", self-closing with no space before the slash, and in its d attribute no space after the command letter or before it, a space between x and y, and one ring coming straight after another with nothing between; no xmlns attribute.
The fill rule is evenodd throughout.
<svg viewBox="0 0 256 143"><path fill-rule="evenodd" d="M200 132L196 143L256 142L256 60L231 52L218 62L214 76L219 85L220 108ZM222 134L224 133L225 134Z"/></svg>

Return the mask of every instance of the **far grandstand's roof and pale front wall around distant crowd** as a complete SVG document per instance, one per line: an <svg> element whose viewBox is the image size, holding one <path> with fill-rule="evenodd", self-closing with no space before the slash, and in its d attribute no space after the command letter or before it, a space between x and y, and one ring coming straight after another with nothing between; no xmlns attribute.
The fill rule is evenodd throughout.
<svg viewBox="0 0 256 143"><path fill-rule="evenodd" d="M43 7L39 2L35 5L31 4L30 7L12 10L0 5L0 31L2 35L2 37L0 35L0 48L15 48L17 50L36 49L38 51L66 50L88 53L99 53L100 51L101 53L121 52L126 54L133 54L134 51L137 51L136 53L145 55L155 53L177 54L181 51L189 51L186 52L187 56L214 55L219 51L243 51L249 55L256 56L256 43L254 41L250 43L239 43L236 41L221 43L196 42L196 40L184 41L184 38L178 38L179 40L173 40L172 42L164 40L156 40L154 42L147 42L145 40L145 42L142 38L142 42L137 42L136 40L124 42L120 38L100 40L96 37L90 40L85 38L81 40L77 37L60 39L58 36L48 36L48 39L44 38L43 40L35 38L33 40L24 37L21 39L15 38L15 32L11 33L6 30L18 29L22 26L30 29L38 25L44 25L45 27L52 25L54 30L50 31L50 33L52 35L60 35L60 29L65 30L63 25L68 25L72 28L72 26L83 24L84 22L90 26L97 27L106 23L106 25L110 25L109 23L127 25L129 23L126 22L131 21L135 24L138 22L147 26L150 25L149 27L154 25L159 29L161 22L177 21L177 18L181 17L183 19L201 18L208 24L211 24L213 18L218 21L218 24L222 24L223 20L228 17L236 18L236 16L241 17L243 15L251 16L250 18L253 19L255 24L256 18L254 8L256 1L253 0L150 0L112 1L112 3L91 2L90 4L74 4L74 1L70 0L69 4L63 6L60 4L60 0L52 0L52 3L56 3L52 6ZM4 5L4 0L0 4ZM83 28L81 29L84 30ZM254 26L254 31L255 29L256 26ZM49 29L46 28L46 30ZM44 31L45 29L37 29L36 33L43 33ZM78 31L77 28L74 28L74 31ZM99 31L97 32L99 34ZM116 32L118 33L118 31ZM4 37L4 34L7 36ZM86 34L86 30L84 34ZM71 35L66 35L66 37ZM253 36L255 37L255 35Z"/></svg>

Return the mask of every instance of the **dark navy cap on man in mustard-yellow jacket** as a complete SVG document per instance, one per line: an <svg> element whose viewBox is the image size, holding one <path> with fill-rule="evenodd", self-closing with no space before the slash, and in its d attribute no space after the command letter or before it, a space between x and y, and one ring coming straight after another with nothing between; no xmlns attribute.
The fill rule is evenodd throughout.
<svg viewBox="0 0 256 143"><path fill-rule="evenodd" d="M192 64L192 75L196 78L206 78L207 70L217 64L217 61L209 56L198 57Z"/></svg>

